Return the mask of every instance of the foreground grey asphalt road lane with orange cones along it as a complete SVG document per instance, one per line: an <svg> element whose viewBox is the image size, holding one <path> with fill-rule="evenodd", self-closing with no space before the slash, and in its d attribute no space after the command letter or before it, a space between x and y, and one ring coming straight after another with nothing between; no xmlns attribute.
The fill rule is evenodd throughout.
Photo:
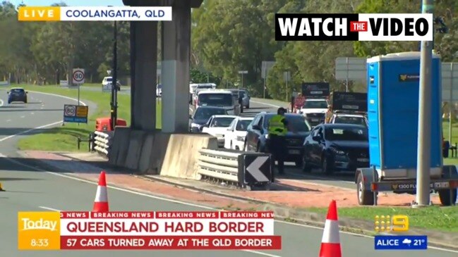
<svg viewBox="0 0 458 257"><path fill-rule="evenodd" d="M0 249L5 256L81 256L81 253L65 251L61 253L20 252L17 246L16 215L18 211L45 211L45 208L61 211L90 211L97 186L86 182L71 180L49 173L24 168L0 158L3 180L8 181L8 192L1 192L0 201L3 218L0 219ZM109 180L109 177L108 177ZM191 206L186 203L174 203L145 194L109 189L109 203L113 211L198 211L205 206ZM318 256L323 230L313 227L276 222L275 233L282 235L281 251L263 251L282 257ZM401 257L405 251L374 251L373 239L353 234L341 233L343 256L390 256ZM84 256L163 256L162 251L85 251ZM416 251L417 257L435 256L452 257L457 252L429 249ZM244 251L167 251L168 256L263 256L260 253Z"/></svg>

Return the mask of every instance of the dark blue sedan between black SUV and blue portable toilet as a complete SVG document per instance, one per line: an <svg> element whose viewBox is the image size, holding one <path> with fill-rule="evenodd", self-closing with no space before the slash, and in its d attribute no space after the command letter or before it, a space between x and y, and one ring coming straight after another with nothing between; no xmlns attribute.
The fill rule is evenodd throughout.
<svg viewBox="0 0 458 257"><path fill-rule="evenodd" d="M368 128L353 124L320 124L303 144L303 171L323 173L369 167Z"/></svg>

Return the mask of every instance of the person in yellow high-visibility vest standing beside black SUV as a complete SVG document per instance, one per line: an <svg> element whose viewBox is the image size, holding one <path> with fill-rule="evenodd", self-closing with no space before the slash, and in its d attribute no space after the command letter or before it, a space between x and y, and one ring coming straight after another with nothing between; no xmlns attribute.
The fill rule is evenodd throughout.
<svg viewBox="0 0 458 257"><path fill-rule="evenodd" d="M284 173L284 158L287 154L287 140L285 136L288 132L287 126L288 121L284 117L284 113L286 110L284 108L278 108L277 115L272 116L268 123L268 130L269 130L269 143L267 149L274 158L272 163L277 161L278 163L278 173ZM274 175L272 173L272 182L275 182Z"/></svg>

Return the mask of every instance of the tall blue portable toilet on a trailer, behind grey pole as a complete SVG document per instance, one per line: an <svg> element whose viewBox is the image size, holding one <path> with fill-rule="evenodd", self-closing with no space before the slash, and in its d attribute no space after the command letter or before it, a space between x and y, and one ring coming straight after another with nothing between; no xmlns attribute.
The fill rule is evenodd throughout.
<svg viewBox="0 0 458 257"><path fill-rule="evenodd" d="M431 175L442 170L441 61L433 54ZM420 52L375 56L367 61L370 165L385 178L415 178L418 149Z"/></svg>

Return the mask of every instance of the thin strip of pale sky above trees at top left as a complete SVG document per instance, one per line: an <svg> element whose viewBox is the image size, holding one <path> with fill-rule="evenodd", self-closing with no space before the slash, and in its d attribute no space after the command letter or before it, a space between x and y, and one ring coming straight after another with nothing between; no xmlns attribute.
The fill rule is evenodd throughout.
<svg viewBox="0 0 458 257"><path fill-rule="evenodd" d="M122 0L9 0L9 2L15 6L21 3L27 6L50 6L61 2L67 6L123 6Z"/></svg>

